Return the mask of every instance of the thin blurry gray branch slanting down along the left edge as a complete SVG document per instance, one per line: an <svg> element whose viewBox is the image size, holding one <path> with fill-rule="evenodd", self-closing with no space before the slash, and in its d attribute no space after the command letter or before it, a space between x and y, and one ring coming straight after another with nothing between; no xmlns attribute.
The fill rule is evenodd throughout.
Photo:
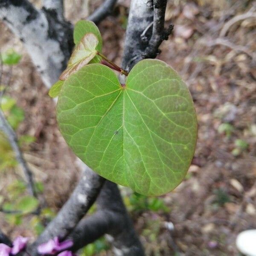
<svg viewBox="0 0 256 256"><path fill-rule="evenodd" d="M3 131L4 134L6 134L6 137L12 146L12 150L15 153L16 160L20 164L20 167L21 167L22 171L24 172L29 194L34 197L37 197L37 194L35 192L35 184L34 184L32 172L30 171L29 167L27 166L26 161L23 158L23 154L20 151L15 131L12 129L12 127L9 125L8 121L6 120L1 107L0 107L0 130Z"/></svg>

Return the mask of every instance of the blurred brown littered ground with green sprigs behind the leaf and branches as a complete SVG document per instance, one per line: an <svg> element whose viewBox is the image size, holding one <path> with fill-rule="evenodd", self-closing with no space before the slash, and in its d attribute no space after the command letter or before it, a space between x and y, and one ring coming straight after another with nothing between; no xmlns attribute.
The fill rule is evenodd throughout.
<svg viewBox="0 0 256 256"><path fill-rule="evenodd" d="M64 2L71 23L102 3ZM129 5L119 0L99 25L103 54L116 64L122 60ZM199 128L195 157L173 192L153 198L122 187L123 199L147 256L238 255L237 234L256 229L256 1L169 0L166 26L170 23L174 31L158 58L178 71L192 93ZM2 84L10 85L2 108L47 205L36 214L38 201L27 194L23 173L0 133L0 227L12 238L32 237L67 200L79 172L58 131L55 104L22 43L2 22L0 35L1 53L17 63L3 66ZM102 238L80 255L112 255L109 248Z"/></svg>

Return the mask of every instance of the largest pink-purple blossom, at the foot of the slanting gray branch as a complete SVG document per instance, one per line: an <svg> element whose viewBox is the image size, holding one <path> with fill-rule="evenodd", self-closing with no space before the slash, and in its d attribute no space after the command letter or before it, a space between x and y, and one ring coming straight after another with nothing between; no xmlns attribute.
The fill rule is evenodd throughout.
<svg viewBox="0 0 256 256"><path fill-rule="evenodd" d="M58 237L56 236L54 239L50 239L48 242L46 242L44 244L40 244L38 246L38 253L55 254L59 251L65 250L71 246L73 246L73 241L66 240L66 241L60 242Z"/></svg>

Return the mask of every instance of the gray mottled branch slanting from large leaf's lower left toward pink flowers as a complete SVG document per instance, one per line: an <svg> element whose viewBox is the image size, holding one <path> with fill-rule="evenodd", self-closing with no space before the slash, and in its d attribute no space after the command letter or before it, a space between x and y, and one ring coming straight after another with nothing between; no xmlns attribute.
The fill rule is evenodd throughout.
<svg viewBox="0 0 256 256"><path fill-rule="evenodd" d="M81 175L79 183L68 201L64 204L57 216L49 223L38 239L28 247L31 256L38 254L37 247L49 239L58 236L64 239L76 227L81 218L96 200L105 179L86 168Z"/></svg>

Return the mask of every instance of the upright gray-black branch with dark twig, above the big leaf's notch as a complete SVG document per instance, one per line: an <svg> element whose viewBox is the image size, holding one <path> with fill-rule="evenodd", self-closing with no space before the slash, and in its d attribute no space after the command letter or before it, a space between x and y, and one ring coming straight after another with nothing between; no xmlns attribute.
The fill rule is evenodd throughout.
<svg viewBox="0 0 256 256"><path fill-rule="evenodd" d="M155 58L158 47L167 40L173 25L164 28L167 0L132 0L125 37L125 50L122 68L131 68L144 58ZM153 23L153 28L151 29ZM148 41L147 38L150 38Z"/></svg>

